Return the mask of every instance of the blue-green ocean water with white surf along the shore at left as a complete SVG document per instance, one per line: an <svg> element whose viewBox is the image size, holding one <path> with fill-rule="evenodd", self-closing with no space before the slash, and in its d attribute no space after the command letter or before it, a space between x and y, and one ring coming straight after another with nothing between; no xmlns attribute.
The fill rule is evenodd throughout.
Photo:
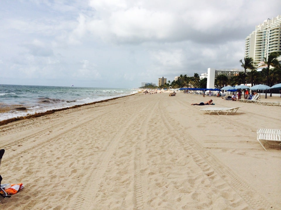
<svg viewBox="0 0 281 210"><path fill-rule="evenodd" d="M137 92L138 90L121 88L0 85L0 121Z"/></svg>

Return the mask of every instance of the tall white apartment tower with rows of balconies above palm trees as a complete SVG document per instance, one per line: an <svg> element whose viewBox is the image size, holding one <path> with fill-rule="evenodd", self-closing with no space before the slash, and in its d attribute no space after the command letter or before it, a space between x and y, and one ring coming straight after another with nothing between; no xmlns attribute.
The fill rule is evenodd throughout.
<svg viewBox="0 0 281 210"><path fill-rule="evenodd" d="M255 67L271 52L281 51L281 15L263 21L245 39L244 57L251 57Z"/></svg>

